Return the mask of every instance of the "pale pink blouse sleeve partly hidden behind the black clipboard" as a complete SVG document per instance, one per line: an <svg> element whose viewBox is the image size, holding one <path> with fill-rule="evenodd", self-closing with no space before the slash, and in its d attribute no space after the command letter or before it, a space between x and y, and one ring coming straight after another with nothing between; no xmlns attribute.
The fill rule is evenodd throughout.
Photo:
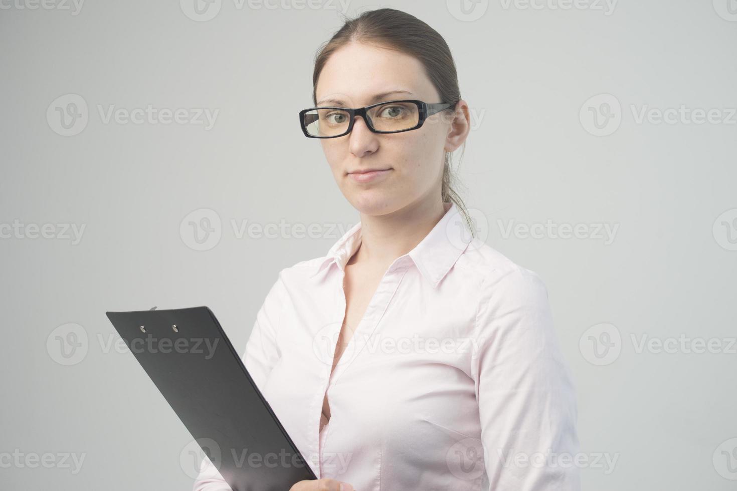
<svg viewBox="0 0 737 491"><path fill-rule="evenodd" d="M283 271L283 270L282 270ZM264 303L256 314L256 322L248 336L242 360L251 378L256 382L259 390L265 386L268 374L279 361L281 352L277 342L279 332L279 318L284 299L284 283L282 272L273 283ZM193 491L232 491L228 483L223 480L217 468L204 456L200 464L200 473L195 479Z"/></svg>

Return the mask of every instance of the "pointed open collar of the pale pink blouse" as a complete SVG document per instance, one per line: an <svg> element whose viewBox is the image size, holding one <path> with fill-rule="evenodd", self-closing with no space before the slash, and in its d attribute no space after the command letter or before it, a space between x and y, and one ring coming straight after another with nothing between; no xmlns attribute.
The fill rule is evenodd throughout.
<svg viewBox="0 0 737 491"><path fill-rule="evenodd" d="M443 206L445 214L436 223L433 230L430 230L430 233L413 250L400 256L400 258L411 258L422 276L433 286L437 286L440 280L447 275L471 240L468 227L455 203L444 202ZM318 272L333 263L338 264L340 269L344 269L348 260L358 250L360 243L361 222L358 222L330 247L324 258L315 264L310 277L317 275Z"/></svg>

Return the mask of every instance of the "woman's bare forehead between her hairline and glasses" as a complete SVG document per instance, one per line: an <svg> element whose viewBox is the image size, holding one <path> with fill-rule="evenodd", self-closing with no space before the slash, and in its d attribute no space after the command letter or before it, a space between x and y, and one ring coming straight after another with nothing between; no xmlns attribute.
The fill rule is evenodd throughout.
<svg viewBox="0 0 737 491"><path fill-rule="evenodd" d="M391 91L406 91L389 94ZM380 99L377 95L386 94ZM318 104L343 102L350 107L380 100L436 101L438 93L415 57L379 46L350 43L325 63L315 90Z"/></svg>

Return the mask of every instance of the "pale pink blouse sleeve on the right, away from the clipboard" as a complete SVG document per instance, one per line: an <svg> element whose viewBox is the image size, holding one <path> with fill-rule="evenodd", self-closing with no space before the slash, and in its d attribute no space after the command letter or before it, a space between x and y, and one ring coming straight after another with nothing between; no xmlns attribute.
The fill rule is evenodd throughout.
<svg viewBox="0 0 737 491"><path fill-rule="evenodd" d="M495 491L579 491L576 393L539 276L484 281L472 375L486 476Z"/></svg>

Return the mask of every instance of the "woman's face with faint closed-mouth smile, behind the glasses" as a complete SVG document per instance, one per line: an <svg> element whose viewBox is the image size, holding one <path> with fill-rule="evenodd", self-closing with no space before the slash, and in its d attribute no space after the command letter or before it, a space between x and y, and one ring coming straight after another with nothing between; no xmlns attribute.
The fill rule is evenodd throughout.
<svg viewBox="0 0 737 491"><path fill-rule="evenodd" d="M329 57L315 94L318 106L364 107L399 99L453 102L439 99L415 57L357 42ZM383 215L439 199L444 152L455 150L467 135L467 127L461 124L459 130L452 121L450 109L430 116L417 130L379 134L357 116L351 133L321 144L343 196L360 213ZM388 170L371 180L352 175L366 169Z"/></svg>

